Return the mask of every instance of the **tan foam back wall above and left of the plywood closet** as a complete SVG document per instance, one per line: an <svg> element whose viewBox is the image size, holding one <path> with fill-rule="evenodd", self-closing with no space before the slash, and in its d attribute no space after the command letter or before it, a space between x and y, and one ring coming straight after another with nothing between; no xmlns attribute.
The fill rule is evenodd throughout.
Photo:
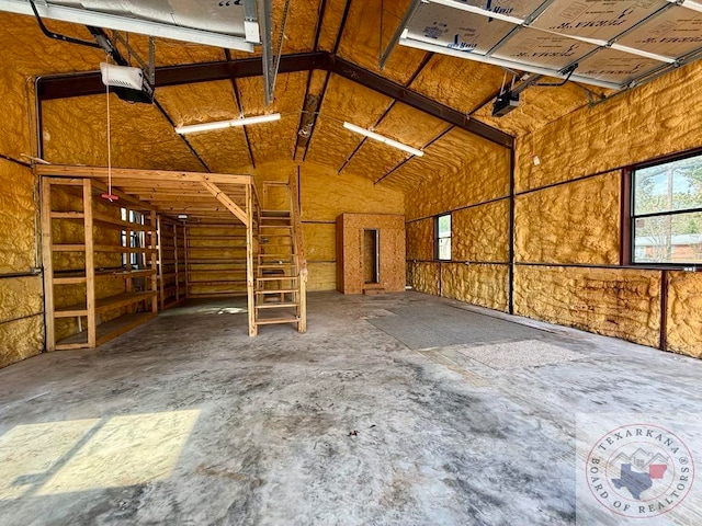
<svg viewBox="0 0 702 526"><path fill-rule="evenodd" d="M374 186L365 178L338 175L329 168L306 163L279 162L257 167L259 194L263 181L287 182L299 169L303 242L309 268L308 290L337 287L336 218L344 213L404 214L401 192Z"/></svg>

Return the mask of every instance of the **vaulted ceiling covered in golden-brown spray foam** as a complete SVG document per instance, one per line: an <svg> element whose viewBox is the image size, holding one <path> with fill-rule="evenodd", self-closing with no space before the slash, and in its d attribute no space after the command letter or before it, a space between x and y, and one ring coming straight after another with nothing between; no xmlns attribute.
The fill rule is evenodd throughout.
<svg viewBox="0 0 702 526"><path fill-rule="evenodd" d="M285 1L273 3L276 41ZM291 66L290 72L278 76L275 98L268 107L260 76L239 72L219 78L213 73L205 76L212 80L191 82L192 77L184 75L179 80L176 75L161 85L158 70L157 104L113 100L113 163L247 173L269 163L304 161L342 175L360 175L409 190L460 170L471 156L503 148L475 130L489 132L489 126L519 137L588 103L587 90L571 82L557 88L532 87L522 94L516 111L494 118L491 101L505 79L505 71L498 67L397 46L381 70L380 56L408 4L409 0L291 0L282 54L284 61L290 59L285 64L297 65L299 70ZM47 25L90 38L80 25ZM129 44L147 55L146 37L129 35ZM326 66L305 68L304 60L295 62L290 57L309 57L315 52L327 57ZM30 16L7 13L0 13L0 54L2 75L13 72L21 83L18 90L25 89L26 77L95 71L104 59L100 50L46 38ZM212 72L220 71L224 64L231 66L229 71L238 71L240 60L250 64L259 54L259 48L251 55L167 39L156 42L159 68L200 64L206 66L199 72ZM176 70L169 71L174 75ZM80 82L70 85L78 89ZM282 114L274 123L185 137L173 130L173 125L273 112ZM71 163L78 153L80 162L105 164L105 152L89 139L80 139L103 137L105 115L104 94L47 100L43 103L44 156L54 162ZM411 157L364 139L344 129L344 121L422 149L424 156Z"/></svg>

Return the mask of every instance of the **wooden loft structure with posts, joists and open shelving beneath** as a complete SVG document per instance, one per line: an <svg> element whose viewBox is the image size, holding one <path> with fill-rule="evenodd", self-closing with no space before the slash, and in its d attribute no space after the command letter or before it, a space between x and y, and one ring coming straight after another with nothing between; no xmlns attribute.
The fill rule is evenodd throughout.
<svg viewBox="0 0 702 526"><path fill-rule="evenodd" d="M86 300L77 305L54 309L52 302L50 313L47 316L47 323L50 321L52 327L55 318L82 317L90 323L88 335L79 333L70 336L56 348L95 346L155 316L157 301L162 309L167 300L178 301L191 295L202 295L197 287L205 285L219 287L229 295L246 294L249 334L256 334L253 254L258 251L260 208L251 175L123 168L113 168L109 174L104 167L58 164L37 164L34 169L43 182L42 220L43 230L47 232L43 237L45 266L50 267L52 254L55 252L82 253L86 260L86 267L78 277L54 275L53 272L46 275L46 287L52 291L52 298L54 286L57 285L84 284L88 290ZM105 216L95 208L101 202L101 193L107 191L109 179L112 180L111 193L118 197L111 206L139 211L150 218L148 224L124 221L115 216ZM60 186L81 197L83 206L80 209L54 210L50 199L53 186ZM186 215L188 220L178 221L180 215ZM84 240L72 244L52 242L52 220L78 221L83 226ZM171 221L170 226L168 221ZM93 242L90 235L94 224L110 225L126 231L127 237L128 232L143 231L149 236L148 245L138 249L103 247ZM212 229L215 233L204 236L203 228ZM212 239L212 236L218 239ZM92 260L93 254L105 250L115 254L145 254L150 261L149 275L152 277L148 293L135 294L131 288L132 282L127 281L125 294L98 300L94 281L100 272ZM182 251L182 259L179 251ZM213 260L213 252L216 251L223 252L218 258L224 258L229 266L222 268L216 263L219 260ZM233 255L235 252L236 258ZM135 277L136 272L143 271L131 272L128 279ZM103 311L114 312L127 307L134 310L131 306L145 299L149 301L149 311L143 316L132 316L134 312L127 311L127 315L121 317L121 321L97 321ZM54 340L52 345L55 345Z"/></svg>

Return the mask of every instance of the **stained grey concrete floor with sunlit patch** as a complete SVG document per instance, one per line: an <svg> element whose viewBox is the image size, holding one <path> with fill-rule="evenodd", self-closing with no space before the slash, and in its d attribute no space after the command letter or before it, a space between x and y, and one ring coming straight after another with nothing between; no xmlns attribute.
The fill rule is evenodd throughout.
<svg viewBox="0 0 702 526"><path fill-rule="evenodd" d="M241 307L0 370L0 524L702 524L702 483L627 522L586 473L633 423L700 455L701 361L418 293Z"/></svg>

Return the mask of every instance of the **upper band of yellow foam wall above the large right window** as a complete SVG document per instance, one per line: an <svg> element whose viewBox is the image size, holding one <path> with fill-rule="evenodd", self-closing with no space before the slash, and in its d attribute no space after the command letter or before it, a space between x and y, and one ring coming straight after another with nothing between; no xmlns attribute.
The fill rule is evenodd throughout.
<svg viewBox="0 0 702 526"><path fill-rule="evenodd" d="M517 191L700 146L702 94L694 89L700 81L700 65L688 65L526 135L519 141Z"/></svg>

